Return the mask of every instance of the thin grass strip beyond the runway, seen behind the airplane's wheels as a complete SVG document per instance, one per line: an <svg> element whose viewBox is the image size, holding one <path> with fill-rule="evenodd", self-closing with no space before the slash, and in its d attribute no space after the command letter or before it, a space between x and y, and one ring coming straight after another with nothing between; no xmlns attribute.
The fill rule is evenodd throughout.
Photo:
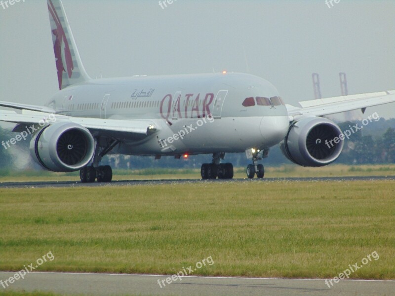
<svg viewBox="0 0 395 296"><path fill-rule="evenodd" d="M395 165L358 165L347 166L332 164L321 168L305 168L297 165L265 167L266 178L286 177L347 177L347 176L394 176ZM143 169L114 170L115 181L122 180L159 180L159 179L199 179L200 169ZM247 178L245 168L235 168L235 178ZM47 171L0 171L2 182L47 182L79 181L79 172L51 173Z"/></svg>

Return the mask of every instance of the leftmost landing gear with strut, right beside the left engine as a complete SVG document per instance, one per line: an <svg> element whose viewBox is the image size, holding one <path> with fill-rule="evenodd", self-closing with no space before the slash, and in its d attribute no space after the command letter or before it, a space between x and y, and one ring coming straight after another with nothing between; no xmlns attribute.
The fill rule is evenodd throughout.
<svg viewBox="0 0 395 296"><path fill-rule="evenodd" d="M113 180L113 170L111 166L99 166L99 162L102 160L104 155L119 144L119 141L114 140L108 142L105 148L101 148L99 142L100 139L97 139L93 164L84 167L79 171L79 179L81 180L81 183L93 183L96 179L99 183L111 182Z"/></svg>

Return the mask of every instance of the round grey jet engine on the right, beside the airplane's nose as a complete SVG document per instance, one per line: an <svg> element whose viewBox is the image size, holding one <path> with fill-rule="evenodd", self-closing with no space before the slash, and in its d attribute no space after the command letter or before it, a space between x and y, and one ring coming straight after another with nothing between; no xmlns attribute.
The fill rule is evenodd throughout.
<svg viewBox="0 0 395 296"><path fill-rule="evenodd" d="M290 126L285 140L280 143L280 148L282 153L296 164L320 167L339 157L344 141L335 138L339 138L341 134L340 128L329 119L307 117Z"/></svg>

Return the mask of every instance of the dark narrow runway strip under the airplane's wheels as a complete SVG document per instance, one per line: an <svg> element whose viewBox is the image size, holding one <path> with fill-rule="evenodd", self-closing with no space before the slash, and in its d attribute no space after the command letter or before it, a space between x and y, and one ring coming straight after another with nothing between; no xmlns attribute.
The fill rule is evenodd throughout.
<svg viewBox="0 0 395 296"><path fill-rule="evenodd" d="M0 188L45 188L45 187L97 187L97 186L133 186L133 185L162 185L183 183L234 183L234 182L342 182L342 181L383 181L395 180L395 176L368 176L368 177L309 177L309 178L265 178L265 179L233 179L233 180L128 180L113 181L111 183L82 184L76 181L68 182L4 182Z"/></svg>

